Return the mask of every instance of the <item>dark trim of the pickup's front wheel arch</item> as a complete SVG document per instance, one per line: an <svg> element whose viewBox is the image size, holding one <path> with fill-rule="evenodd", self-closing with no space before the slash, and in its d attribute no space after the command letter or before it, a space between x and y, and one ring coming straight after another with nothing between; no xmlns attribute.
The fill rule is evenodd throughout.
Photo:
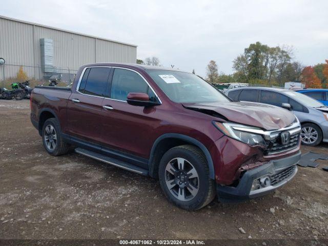
<svg viewBox="0 0 328 246"><path fill-rule="evenodd" d="M203 152L209 166L210 178L215 179L213 160L209 150L197 139L178 133L166 133L155 140L148 161L149 175L157 178L158 164L163 154L173 147L186 144L196 146Z"/></svg>

